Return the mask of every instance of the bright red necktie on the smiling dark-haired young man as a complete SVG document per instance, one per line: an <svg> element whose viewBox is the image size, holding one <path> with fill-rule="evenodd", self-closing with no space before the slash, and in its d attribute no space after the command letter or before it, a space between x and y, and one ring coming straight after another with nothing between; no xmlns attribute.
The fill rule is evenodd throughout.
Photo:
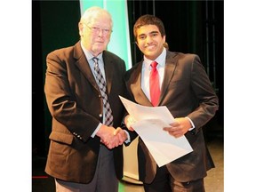
<svg viewBox="0 0 256 192"><path fill-rule="evenodd" d="M149 75L149 85L150 85L149 89L150 89L150 99L153 106L157 106L158 100L160 97L159 75L156 69L157 64L158 63L156 61L153 61L150 64L152 68Z"/></svg>

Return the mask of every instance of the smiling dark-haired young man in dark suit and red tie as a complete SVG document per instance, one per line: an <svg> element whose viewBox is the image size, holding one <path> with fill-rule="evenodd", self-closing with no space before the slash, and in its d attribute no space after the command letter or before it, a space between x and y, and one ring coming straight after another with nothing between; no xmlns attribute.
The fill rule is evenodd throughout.
<svg viewBox="0 0 256 192"><path fill-rule="evenodd" d="M148 107L166 106L175 121L164 131L175 138L185 135L193 148L188 155L158 167L139 139L140 180L146 192L203 192L206 171L214 167L202 130L219 106L212 84L196 54L169 52L165 48L164 24L155 16L141 16L133 33L144 59L125 74L129 99ZM153 61L155 66L151 65ZM124 119L130 131L131 121L129 115ZM130 136L134 140L137 134L132 132Z"/></svg>

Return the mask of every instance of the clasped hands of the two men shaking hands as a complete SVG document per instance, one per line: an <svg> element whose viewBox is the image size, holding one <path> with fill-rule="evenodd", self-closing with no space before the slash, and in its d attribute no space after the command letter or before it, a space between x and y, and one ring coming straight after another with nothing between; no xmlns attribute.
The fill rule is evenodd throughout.
<svg viewBox="0 0 256 192"><path fill-rule="evenodd" d="M100 126L100 130L96 135L100 137L100 142L109 149L123 145L124 141L127 140L127 134L122 128L117 127L115 129L105 124Z"/></svg>

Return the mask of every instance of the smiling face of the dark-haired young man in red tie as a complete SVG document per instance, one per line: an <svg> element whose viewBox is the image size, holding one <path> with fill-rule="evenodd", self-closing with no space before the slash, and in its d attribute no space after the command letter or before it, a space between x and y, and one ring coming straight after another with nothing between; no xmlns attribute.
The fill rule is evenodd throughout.
<svg viewBox="0 0 256 192"><path fill-rule="evenodd" d="M137 29L137 45L149 60L156 58L163 52L165 36L161 36L156 25L145 25Z"/></svg>

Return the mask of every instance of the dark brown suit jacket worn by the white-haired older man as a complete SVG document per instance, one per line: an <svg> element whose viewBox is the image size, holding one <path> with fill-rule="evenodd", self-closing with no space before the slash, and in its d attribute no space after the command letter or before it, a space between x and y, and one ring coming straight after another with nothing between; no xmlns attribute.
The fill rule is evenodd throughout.
<svg viewBox="0 0 256 192"><path fill-rule="evenodd" d="M124 107L118 95L124 95L124 60L103 52L108 85L108 100L114 127L120 126ZM54 178L80 183L92 180L100 138L91 137L102 121L100 90L82 51L80 42L49 53L44 92L52 114L52 132L45 172ZM123 147L114 149L116 175L123 177Z"/></svg>

